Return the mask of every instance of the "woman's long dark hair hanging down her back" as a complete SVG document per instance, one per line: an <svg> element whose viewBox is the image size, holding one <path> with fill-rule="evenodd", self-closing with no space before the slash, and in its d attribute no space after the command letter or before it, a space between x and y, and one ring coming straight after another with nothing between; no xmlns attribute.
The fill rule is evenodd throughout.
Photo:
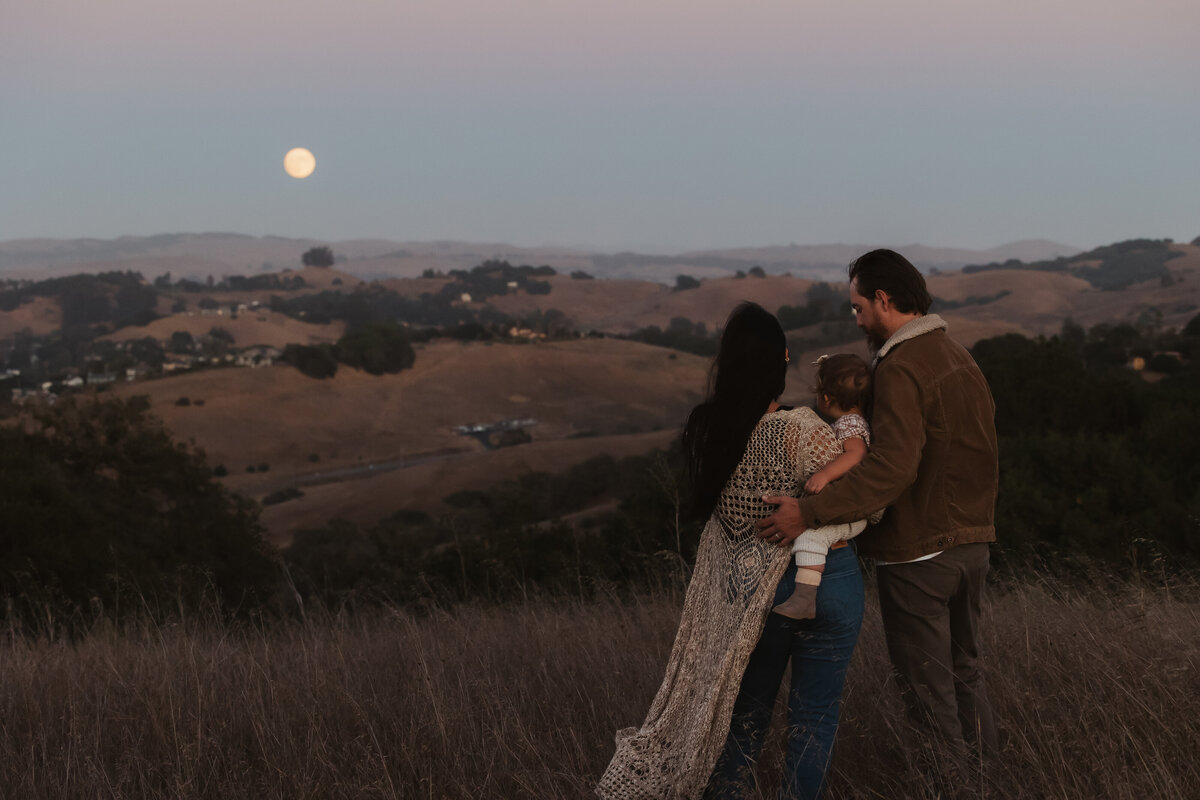
<svg viewBox="0 0 1200 800"><path fill-rule="evenodd" d="M787 380L787 337L774 314L743 302L725 323L708 375L708 398L683 429L691 477L691 510L707 517L742 461L746 443Z"/></svg>

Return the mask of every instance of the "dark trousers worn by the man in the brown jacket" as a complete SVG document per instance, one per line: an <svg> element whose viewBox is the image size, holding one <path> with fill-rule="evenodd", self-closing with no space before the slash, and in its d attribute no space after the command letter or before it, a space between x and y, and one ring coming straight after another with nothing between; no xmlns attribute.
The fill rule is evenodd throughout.
<svg viewBox="0 0 1200 800"><path fill-rule="evenodd" d="M910 715L950 741L996 751L996 724L979 672L979 606L988 545L876 567L888 655Z"/></svg>

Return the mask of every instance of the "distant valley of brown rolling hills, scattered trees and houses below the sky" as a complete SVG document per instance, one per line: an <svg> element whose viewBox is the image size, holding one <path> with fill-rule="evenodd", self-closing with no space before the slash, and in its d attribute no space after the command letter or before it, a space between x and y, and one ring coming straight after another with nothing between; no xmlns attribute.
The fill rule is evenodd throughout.
<svg viewBox="0 0 1200 800"><path fill-rule="evenodd" d="M800 248L670 264L646 257L650 276L605 278L599 267L612 266L610 257L583 253L518 251L510 263L480 246L402 255L383 252L388 242L360 242L332 246L344 259L322 267L299 263L310 242L247 237L239 249L235 239L210 236L208 253L205 236L4 243L0 401L65 391L146 396L227 486L270 500L263 521L281 543L332 517L370 523L400 509L444 512L446 495L530 469L666 447L704 391L704 348L742 300L772 312L790 307L798 357L786 402L810 399L810 363L821 353L868 355L842 308L845 261L829 267L824 284L820 272L800 277ZM251 248L256 259L292 266L236 270ZM31 272L40 277L12 277L32 269L35 251L44 259ZM85 252L104 259L71 260ZM1033 263L1002 255L967 271L925 261L934 311L966 345L1003 333L1052 336L1067 319L1182 329L1200 309L1198 245L1147 240ZM726 263L743 266L716 265ZM204 272L218 266L229 272ZM122 275L104 283L72 271L84 267ZM659 267L678 270L674 285L653 276ZM210 284L206 275L224 277ZM1105 281L1120 288L1099 288ZM371 374L337 362L325 378L298 368L300 350L332 359L349 331L379 320L407 331L410 366ZM529 421L523 438L499 443L457 429L505 420Z"/></svg>

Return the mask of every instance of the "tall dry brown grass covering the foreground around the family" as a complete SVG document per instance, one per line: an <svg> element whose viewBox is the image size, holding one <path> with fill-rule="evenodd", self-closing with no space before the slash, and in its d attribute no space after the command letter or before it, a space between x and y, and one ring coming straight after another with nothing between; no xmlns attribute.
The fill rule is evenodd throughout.
<svg viewBox="0 0 1200 800"><path fill-rule="evenodd" d="M678 600L12 637L0 795L586 798L613 732L656 688ZM1198 796L1198 612L1162 590L994 593L985 645L1004 753L986 794ZM931 796L914 765L935 751L902 735L898 706L869 606L833 798ZM776 738L767 786L778 751Z"/></svg>

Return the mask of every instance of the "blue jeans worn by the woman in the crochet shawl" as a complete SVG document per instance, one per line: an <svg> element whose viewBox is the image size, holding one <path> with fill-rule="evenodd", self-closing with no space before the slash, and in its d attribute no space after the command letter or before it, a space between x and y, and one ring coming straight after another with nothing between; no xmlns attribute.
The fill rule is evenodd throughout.
<svg viewBox="0 0 1200 800"><path fill-rule="evenodd" d="M784 573L773 604L792 594L796 570L793 564ZM788 658L792 686L787 693L787 753L779 796L821 796L838 733L846 668L862 622L863 575L854 548L829 551L817 591L816 619L767 615L742 678L730 735L704 792L706 800L740 800L755 786L755 763Z"/></svg>

